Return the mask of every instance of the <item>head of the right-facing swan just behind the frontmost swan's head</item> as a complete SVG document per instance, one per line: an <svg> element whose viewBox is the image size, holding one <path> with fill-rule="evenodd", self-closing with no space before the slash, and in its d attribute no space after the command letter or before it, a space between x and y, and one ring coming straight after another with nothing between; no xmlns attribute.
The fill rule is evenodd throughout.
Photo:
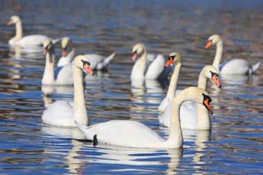
<svg viewBox="0 0 263 175"><path fill-rule="evenodd" d="M204 66L201 73L204 77L207 79L211 79L215 84L220 88L221 84L219 82L219 73L217 71L217 68L211 65Z"/></svg>

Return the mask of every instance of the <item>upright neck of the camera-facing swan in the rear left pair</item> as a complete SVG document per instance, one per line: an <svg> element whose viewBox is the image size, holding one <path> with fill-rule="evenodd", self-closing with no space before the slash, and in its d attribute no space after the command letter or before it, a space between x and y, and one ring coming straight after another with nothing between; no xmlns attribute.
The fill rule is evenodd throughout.
<svg viewBox="0 0 263 175"><path fill-rule="evenodd" d="M48 50L48 53L46 53L46 66L42 78L42 84L55 84L54 66L55 49L51 48L50 50Z"/></svg>

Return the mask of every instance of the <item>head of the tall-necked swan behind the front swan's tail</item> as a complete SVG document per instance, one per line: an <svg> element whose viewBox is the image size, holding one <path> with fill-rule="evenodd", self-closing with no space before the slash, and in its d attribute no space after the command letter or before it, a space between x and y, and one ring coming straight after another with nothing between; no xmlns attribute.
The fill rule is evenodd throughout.
<svg viewBox="0 0 263 175"><path fill-rule="evenodd" d="M87 73L94 75L93 71L91 70L91 63L89 62L89 59L85 57L84 55L78 55L73 60L73 66L76 68L80 68L82 70L84 68Z"/></svg>

